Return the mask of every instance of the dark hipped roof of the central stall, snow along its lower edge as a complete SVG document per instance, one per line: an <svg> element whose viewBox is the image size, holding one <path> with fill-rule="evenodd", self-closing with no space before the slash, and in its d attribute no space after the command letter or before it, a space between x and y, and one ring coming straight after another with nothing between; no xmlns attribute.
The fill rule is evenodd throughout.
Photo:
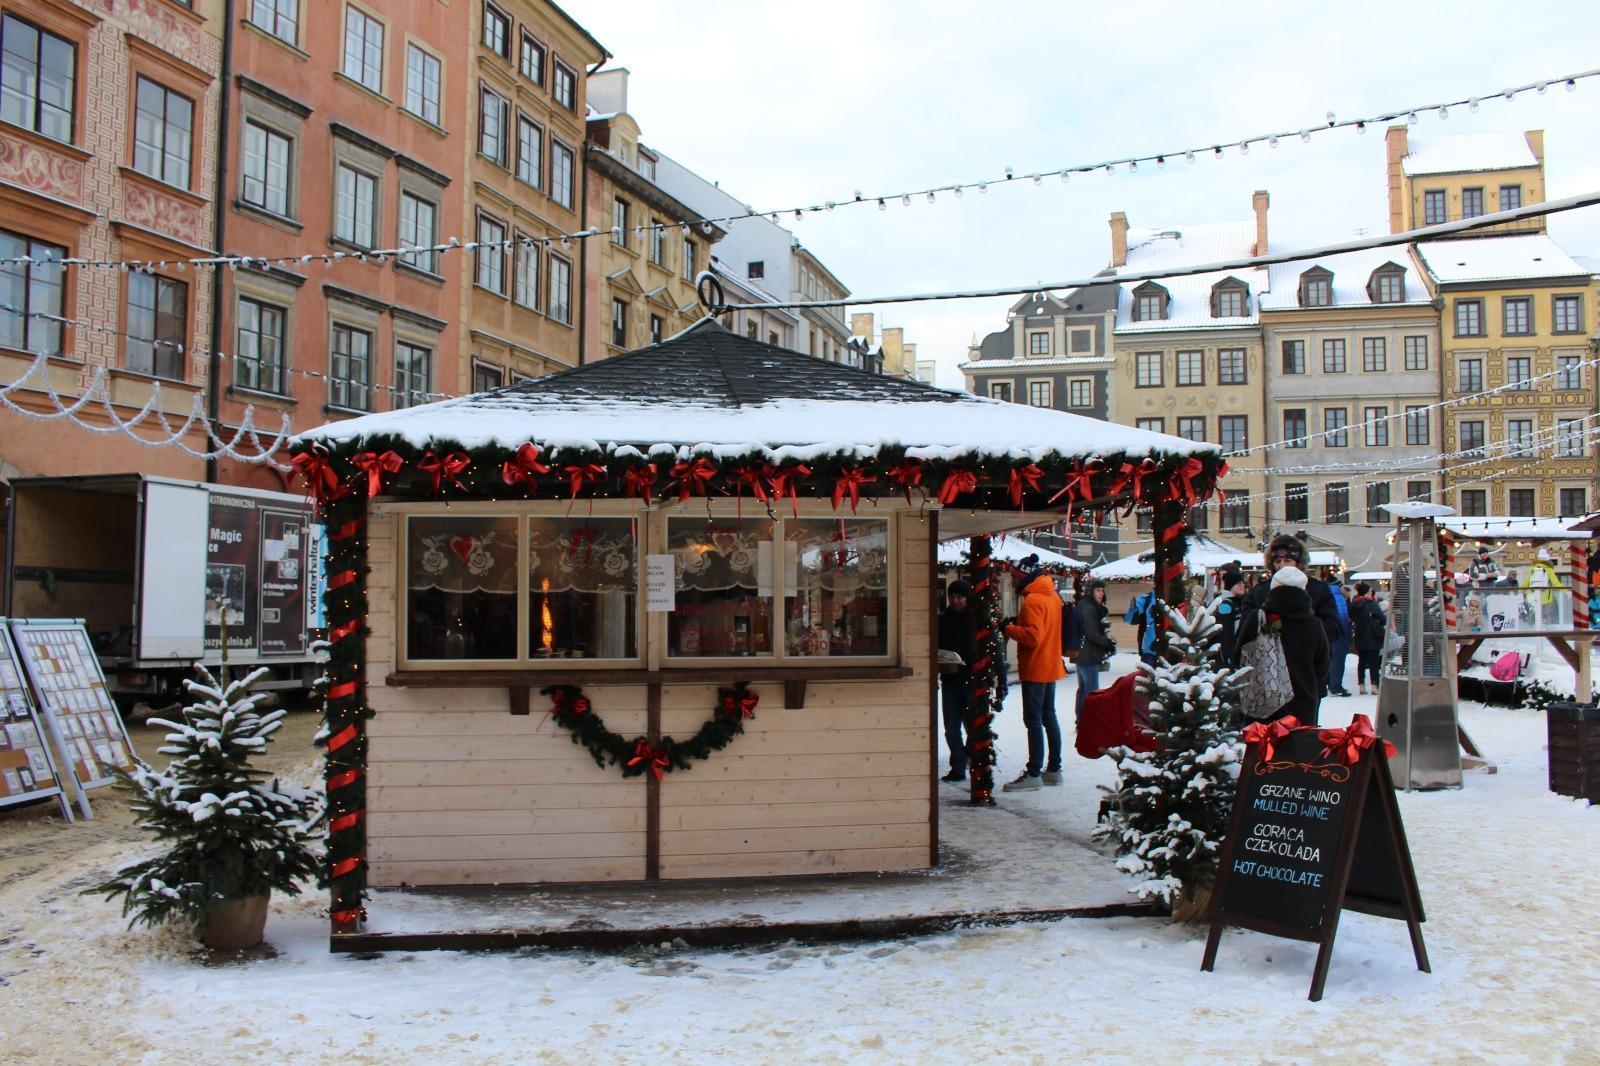
<svg viewBox="0 0 1600 1066"><path fill-rule="evenodd" d="M632 352L501 389L331 423L299 442L398 437L416 448L546 448L808 461L904 447L923 459L1048 455L1203 456L1197 443L827 363L738 336L712 319Z"/></svg>

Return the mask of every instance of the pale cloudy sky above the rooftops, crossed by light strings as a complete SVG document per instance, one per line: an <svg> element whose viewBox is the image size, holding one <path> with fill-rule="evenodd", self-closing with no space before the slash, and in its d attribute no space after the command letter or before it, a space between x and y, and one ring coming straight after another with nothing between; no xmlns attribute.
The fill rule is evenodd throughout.
<svg viewBox="0 0 1600 1066"><path fill-rule="evenodd" d="M646 144L774 210L1194 142L1299 130L1491 93L1600 66L1592 3L909 3L566 0L630 72ZM1222 13L1226 11L1226 18ZM1413 133L1546 130L1547 195L1600 187L1600 78L1568 93L1422 115ZM1272 194L1272 243L1387 227L1382 130L1333 131L1248 157L1182 160L806 214L784 226L858 296L995 288L1106 266L1112 211L1134 227L1250 218ZM1600 208L1552 219L1600 256ZM882 306L939 384L1011 299Z"/></svg>

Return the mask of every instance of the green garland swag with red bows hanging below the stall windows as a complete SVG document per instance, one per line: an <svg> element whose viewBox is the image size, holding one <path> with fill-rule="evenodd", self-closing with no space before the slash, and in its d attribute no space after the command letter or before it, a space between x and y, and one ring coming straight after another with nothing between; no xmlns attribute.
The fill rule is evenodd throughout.
<svg viewBox="0 0 1600 1066"><path fill-rule="evenodd" d="M578 685L549 685L539 695L550 698L549 717L568 730L574 744L584 746L597 767L610 763L621 767L624 778L650 773L658 781L674 770L688 770L690 760L710 759L712 752L731 744L744 731L746 719L755 717L755 704L760 703L760 696L746 682L718 688L717 706L694 736L683 741L662 736L651 744L646 736L626 738L606 728L605 719L595 714L589 696Z"/></svg>

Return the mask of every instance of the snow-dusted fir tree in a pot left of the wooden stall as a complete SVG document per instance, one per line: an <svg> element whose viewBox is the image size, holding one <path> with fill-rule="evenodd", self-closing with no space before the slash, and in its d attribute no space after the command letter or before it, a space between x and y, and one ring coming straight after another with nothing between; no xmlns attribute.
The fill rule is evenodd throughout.
<svg viewBox="0 0 1600 1066"><path fill-rule="evenodd" d="M266 771L250 765L285 715L256 711L266 695L250 695L250 688L266 672L234 682L224 672L218 682L202 667L203 682L184 682L194 703L182 709L182 722L150 720L171 730L158 749L173 755L166 770L141 760L133 771L118 771L122 787L133 792L138 824L166 845L88 890L122 896L130 924L182 917L203 935L211 908L274 888L293 896L301 882L318 876L312 829L322 820L320 797L277 779L266 783Z"/></svg>

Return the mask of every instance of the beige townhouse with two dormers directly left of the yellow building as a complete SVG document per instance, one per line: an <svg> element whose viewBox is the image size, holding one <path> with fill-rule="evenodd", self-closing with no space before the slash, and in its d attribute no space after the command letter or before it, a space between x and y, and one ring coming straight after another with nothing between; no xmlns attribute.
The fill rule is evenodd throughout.
<svg viewBox="0 0 1600 1066"><path fill-rule="evenodd" d="M1354 570L1389 554L1382 504L1435 501L1443 427L1438 312L1406 248L1274 266L1261 298L1269 359L1267 525L1339 544Z"/></svg>

